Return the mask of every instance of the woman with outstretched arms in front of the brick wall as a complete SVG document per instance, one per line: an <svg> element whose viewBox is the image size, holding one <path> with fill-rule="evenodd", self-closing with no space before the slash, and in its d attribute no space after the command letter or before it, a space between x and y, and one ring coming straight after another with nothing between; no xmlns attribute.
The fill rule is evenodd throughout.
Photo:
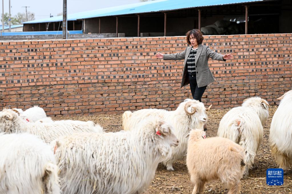
<svg viewBox="0 0 292 194"><path fill-rule="evenodd" d="M187 43L191 46L187 47L183 52L176 54L155 54L157 58L163 58L163 60L184 59L185 66L180 88L190 83L193 99L199 100L200 102L208 84L215 81L208 66L209 58L221 61L233 59L232 54L222 55L212 51L208 46L202 45L203 40L204 37L201 31L193 29L187 32Z"/></svg>

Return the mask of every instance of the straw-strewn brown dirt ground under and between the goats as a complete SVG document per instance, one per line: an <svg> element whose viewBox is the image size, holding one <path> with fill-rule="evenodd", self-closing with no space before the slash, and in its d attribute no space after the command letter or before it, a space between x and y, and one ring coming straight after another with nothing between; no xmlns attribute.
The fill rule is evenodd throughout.
<svg viewBox="0 0 292 194"><path fill-rule="evenodd" d="M268 168L277 168L276 162L271 155L269 145L269 130L272 117L277 109L277 106L270 107L270 117L264 126L264 137L260 145L260 149L256 155L254 166L257 169L250 171L248 178L241 180L241 193L292 193L292 170L290 169L284 175L284 185L282 186L268 186L266 184L266 170ZM208 111L208 130L207 137L214 137L217 135L219 122L223 115L230 109L217 110L211 109ZM55 120L68 119L68 117L58 117ZM91 120L99 123L106 132L122 130L121 115L90 115L90 116L74 116L70 117L72 120ZM190 182L190 176L187 172L185 161L179 160L174 162L174 171L167 171L166 168L159 164L155 177L150 184L146 193L168 193L181 194L192 193L194 185ZM227 193L227 189L220 181L212 181L205 185L204 193Z"/></svg>

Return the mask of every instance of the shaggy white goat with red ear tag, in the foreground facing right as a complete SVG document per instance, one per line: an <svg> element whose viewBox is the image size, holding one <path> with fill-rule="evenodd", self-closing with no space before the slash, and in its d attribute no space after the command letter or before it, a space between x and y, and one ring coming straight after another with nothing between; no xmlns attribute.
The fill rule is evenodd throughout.
<svg viewBox="0 0 292 194"><path fill-rule="evenodd" d="M178 139L171 125L158 118L140 127L135 132L72 134L53 141L63 194L145 191Z"/></svg>

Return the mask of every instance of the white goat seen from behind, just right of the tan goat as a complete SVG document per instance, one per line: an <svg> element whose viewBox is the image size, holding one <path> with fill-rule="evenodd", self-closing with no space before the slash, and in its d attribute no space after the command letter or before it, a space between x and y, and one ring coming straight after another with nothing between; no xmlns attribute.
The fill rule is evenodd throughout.
<svg viewBox="0 0 292 194"><path fill-rule="evenodd" d="M262 124L269 117L267 105L267 101L260 97L246 99L242 106L228 111L219 124L217 133L219 137L228 138L244 148L246 153L244 177L248 176L248 170L252 168L263 139Z"/></svg>

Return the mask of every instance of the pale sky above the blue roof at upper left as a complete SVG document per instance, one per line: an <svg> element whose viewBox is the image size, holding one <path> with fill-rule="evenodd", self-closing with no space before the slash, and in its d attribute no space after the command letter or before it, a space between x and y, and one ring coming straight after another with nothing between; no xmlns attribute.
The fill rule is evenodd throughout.
<svg viewBox="0 0 292 194"><path fill-rule="evenodd" d="M67 0L67 12L78 13L82 11L95 10L100 8L139 3L140 0ZM2 15L2 1L0 1L0 13ZM57 16L63 10L63 0L10 0L11 15L27 11L35 14L35 19L50 17L50 14ZM9 13L9 0L4 0L4 13Z"/></svg>

